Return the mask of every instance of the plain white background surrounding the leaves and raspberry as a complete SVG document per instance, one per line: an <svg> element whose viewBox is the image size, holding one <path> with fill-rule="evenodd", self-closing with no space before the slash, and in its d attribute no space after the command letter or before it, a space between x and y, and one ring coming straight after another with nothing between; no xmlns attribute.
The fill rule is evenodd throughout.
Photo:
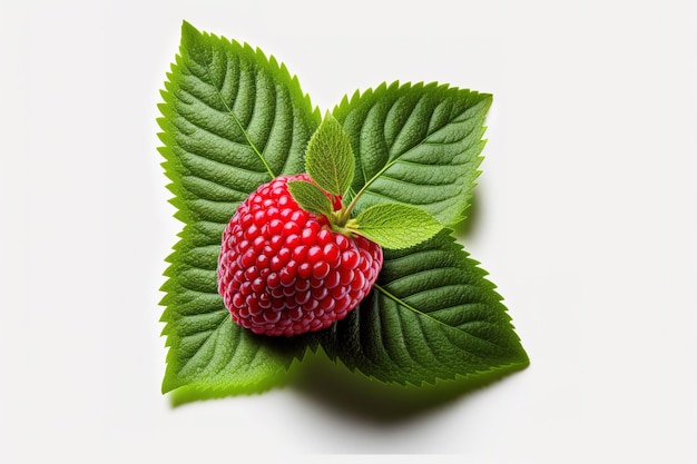
<svg viewBox="0 0 697 464"><path fill-rule="evenodd" d="M323 111L397 79L494 95L462 241L528 369L432 407L323 374L170 406L155 119L183 19ZM697 462L696 26L687 1L2 0L0 462Z"/></svg>

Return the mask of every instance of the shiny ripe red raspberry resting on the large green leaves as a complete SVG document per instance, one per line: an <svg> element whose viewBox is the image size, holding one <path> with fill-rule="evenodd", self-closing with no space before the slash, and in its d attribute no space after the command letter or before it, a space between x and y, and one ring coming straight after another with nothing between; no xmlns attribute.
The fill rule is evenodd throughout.
<svg viewBox="0 0 697 464"><path fill-rule="evenodd" d="M255 334L328 327L367 295L382 267L377 244L333 231L326 217L303 210L289 180L310 177L262 185L223 233L218 292L233 320Z"/></svg>

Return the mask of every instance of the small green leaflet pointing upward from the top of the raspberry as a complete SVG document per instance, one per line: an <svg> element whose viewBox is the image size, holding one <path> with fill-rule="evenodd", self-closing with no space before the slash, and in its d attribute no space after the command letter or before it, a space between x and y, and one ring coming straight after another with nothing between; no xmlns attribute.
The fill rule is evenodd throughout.
<svg viewBox="0 0 697 464"><path fill-rule="evenodd" d="M332 195L344 195L351 186L354 157L348 136L330 112L310 139L305 169L320 188Z"/></svg>

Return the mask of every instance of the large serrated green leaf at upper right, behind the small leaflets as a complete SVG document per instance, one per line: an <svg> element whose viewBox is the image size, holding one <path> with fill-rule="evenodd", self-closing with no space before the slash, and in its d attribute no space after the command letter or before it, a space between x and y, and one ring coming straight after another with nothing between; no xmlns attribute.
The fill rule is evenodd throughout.
<svg viewBox="0 0 697 464"><path fill-rule="evenodd" d="M463 218L484 146L491 96L436 83L382 85L344 98L333 115L356 158L356 210L396 201L452 227Z"/></svg>

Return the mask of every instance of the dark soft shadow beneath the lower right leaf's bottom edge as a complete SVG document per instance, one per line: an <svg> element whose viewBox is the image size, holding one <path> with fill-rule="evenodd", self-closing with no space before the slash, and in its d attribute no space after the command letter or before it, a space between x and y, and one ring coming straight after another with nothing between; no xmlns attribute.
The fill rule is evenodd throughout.
<svg viewBox="0 0 697 464"><path fill-rule="evenodd" d="M479 374L477 379L460 378L421 387L387 385L361 373L352 373L345 366L334 364L321 351L308 356L300 367L298 375L287 387L336 414L376 425L391 425L431 414L526 366L502 367Z"/></svg>

